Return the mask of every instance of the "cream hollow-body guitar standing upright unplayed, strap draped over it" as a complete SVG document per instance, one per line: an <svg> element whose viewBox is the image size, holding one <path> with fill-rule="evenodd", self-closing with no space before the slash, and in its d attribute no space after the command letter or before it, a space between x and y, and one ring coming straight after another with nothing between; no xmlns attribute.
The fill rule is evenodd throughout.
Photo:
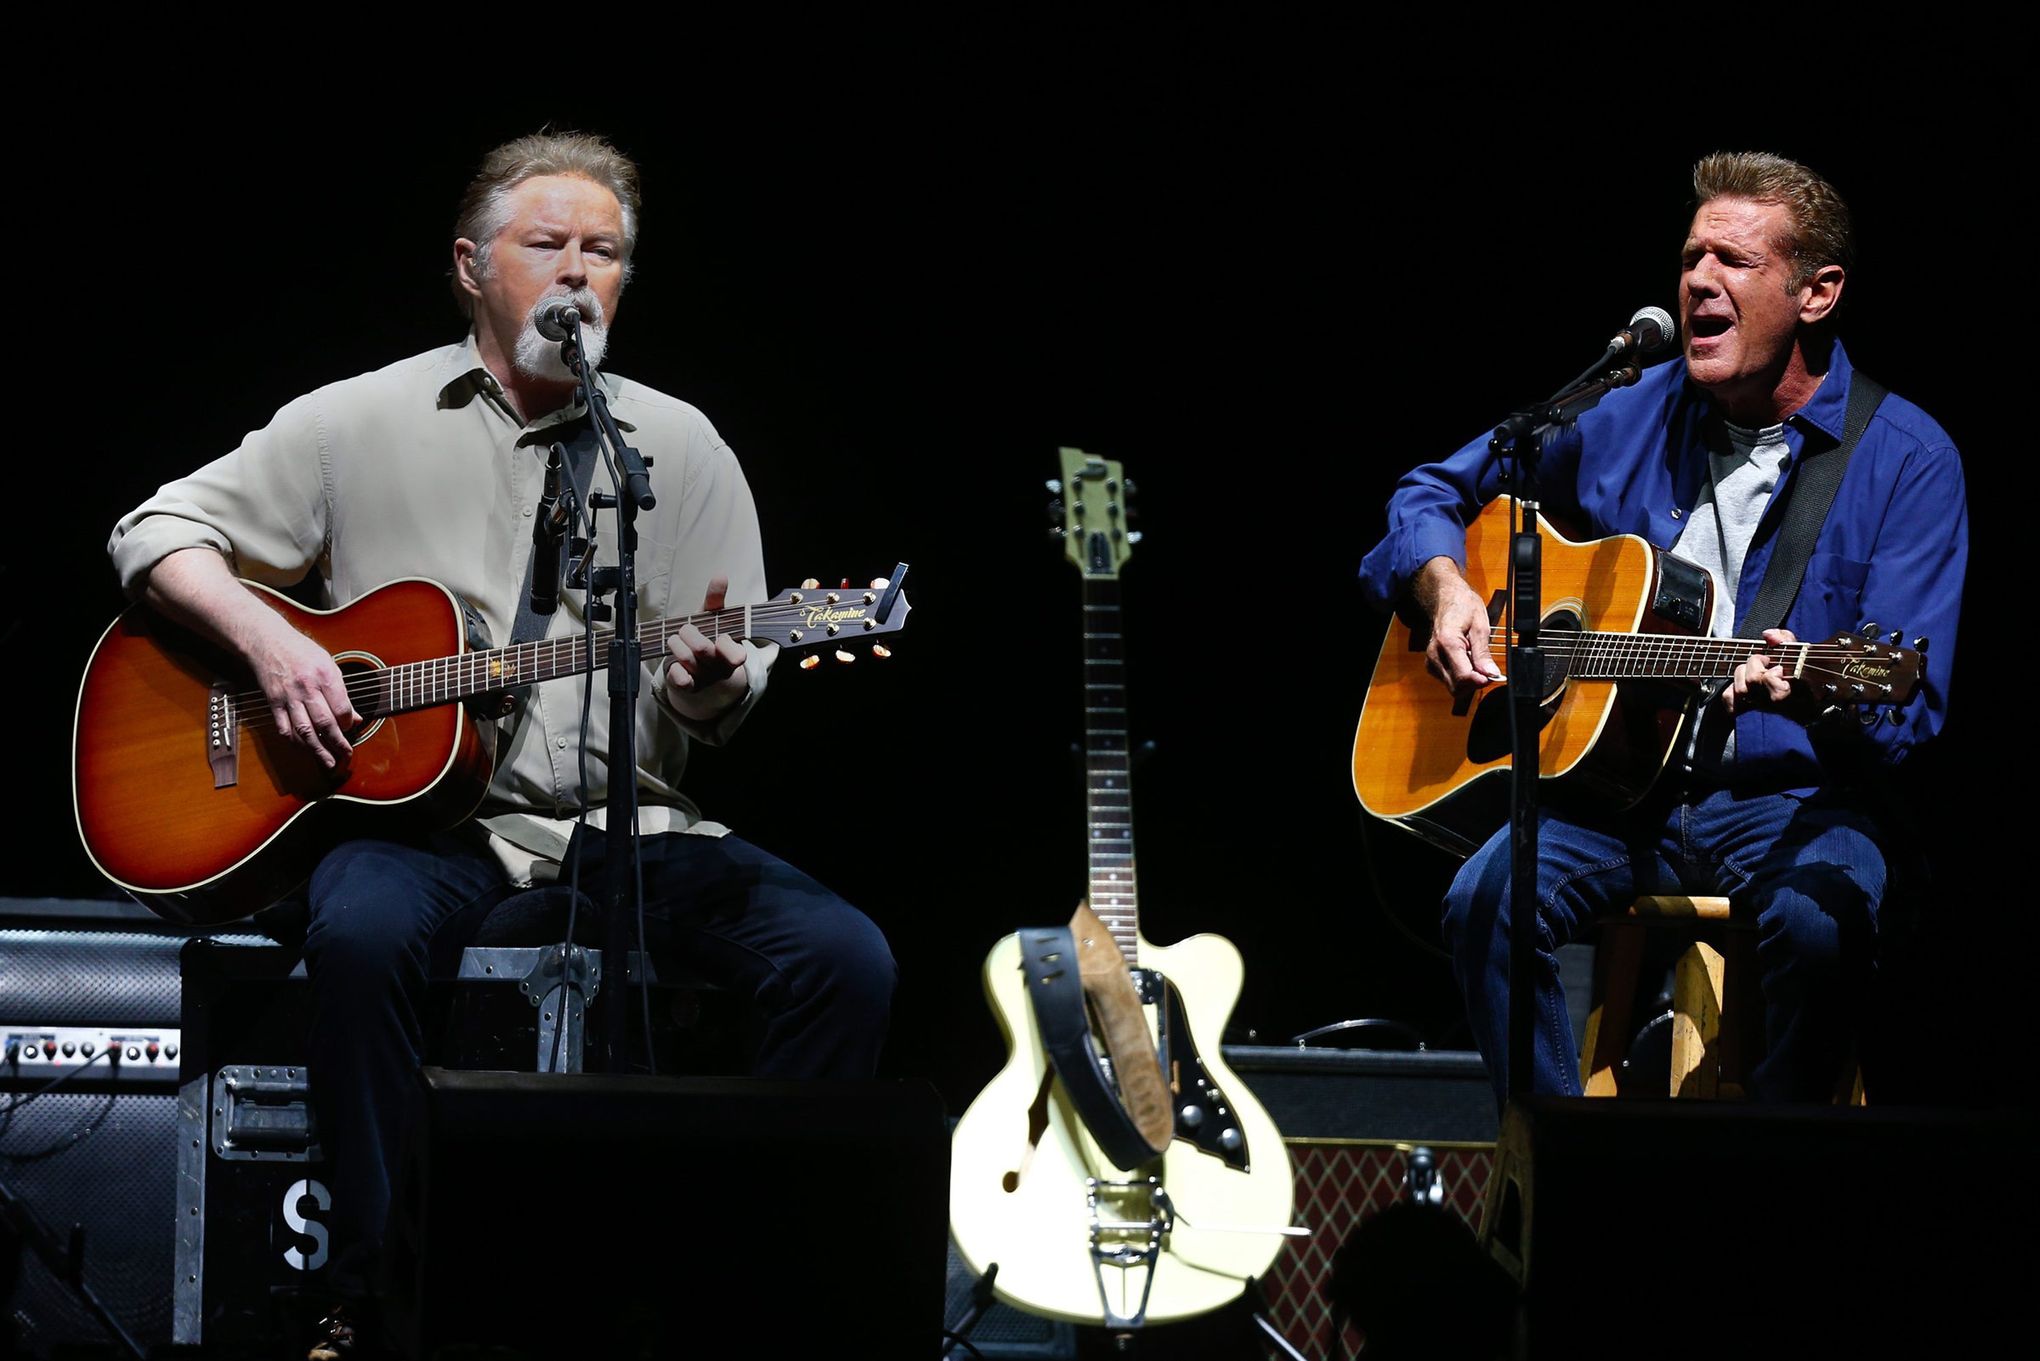
<svg viewBox="0 0 2040 1361"><path fill-rule="evenodd" d="M991 947L1006 1067L957 1122L949 1216L991 1294L1077 1324L1206 1314L1267 1271L1291 1171L1267 1110L1220 1057L1238 951L1140 935L1118 575L1136 533L1120 465L1063 449L1061 535L1083 573L1089 898L1069 926Z"/></svg>

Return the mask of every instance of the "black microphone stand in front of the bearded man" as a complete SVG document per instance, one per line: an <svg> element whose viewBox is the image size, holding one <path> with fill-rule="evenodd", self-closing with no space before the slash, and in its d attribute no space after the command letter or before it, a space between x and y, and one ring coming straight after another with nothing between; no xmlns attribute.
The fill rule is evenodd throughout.
<svg viewBox="0 0 2040 1361"><path fill-rule="evenodd" d="M624 1020L628 1008L624 1006L622 996L628 996L626 961L630 951L630 922L639 922L643 928L645 916L645 875L639 861L636 830L636 700L641 684L641 655L636 639L636 512L651 510L653 504L657 504L657 498L651 492L651 475L647 471L651 461L624 443L622 431L616 429L616 420L610 416L608 398L590 375L588 365L581 361L579 312L563 308L559 316L567 329L567 339L561 341L559 353L579 384L575 388L575 398L579 398L588 408L588 418L596 431L596 443L602 445L604 461L610 465L610 482L618 488L616 496L608 492L590 492L588 496L592 510L616 510L616 565L594 567L588 577L592 598L610 590L616 592L616 610L612 614L614 628L610 631L608 647L610 798L604 839L604 888L608 918L602 935L602 953L608 961L608 973L612 979L612 1006L604 1008L606 1020L596 1051L602 1071L616 1073L622 1071L626 1061ZM594 608L596 606L590 604L592 612ZM594 659L590 657L590 661ZM643 930L639 935L643 935ZM647 967L649 961L641 959L641 979L645 977ZM647 1069L653 1067L649 1026L651 1018L647 1014Z"/></svg>

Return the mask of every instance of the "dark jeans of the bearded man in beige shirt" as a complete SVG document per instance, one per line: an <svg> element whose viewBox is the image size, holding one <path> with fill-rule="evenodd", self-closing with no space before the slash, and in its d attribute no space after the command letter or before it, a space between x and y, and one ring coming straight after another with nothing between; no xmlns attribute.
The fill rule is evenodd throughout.
<svg viewBox="0 0 2040 1361"><path fill-rule="evenodd" d="M583 892L602 892L602 835ZM751 996L761 1077L871 1077L891 1010L885 937L826 888L736 837L647 837L645 932L702 975ZM471 935L512 886L451 837L349 841L310 881L306 1059L333 1163L337 1290L363 1292L390 1214L390 1175L418 1096L428 959Z"/></svg>

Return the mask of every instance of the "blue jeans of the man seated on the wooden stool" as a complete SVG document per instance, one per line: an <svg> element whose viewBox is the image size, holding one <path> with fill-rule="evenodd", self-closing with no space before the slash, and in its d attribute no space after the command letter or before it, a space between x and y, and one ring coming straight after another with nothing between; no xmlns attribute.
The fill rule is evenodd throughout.
<svg viewBox="0 0 2040 1361"><path fill-rule="evenodd" d="M1532 1090L1579 1096L1579 1045L1557 949L1644 894L1722 894L1756 910L1765 1059L1752 1096L1826 1102L1871 973L1885 855L1877 824L1834 798L1654 794L1605 822L1538 810ZM1444 939L1497 1102L1510 1094L1510 835L1469 859L1444 900Z"/></svg>

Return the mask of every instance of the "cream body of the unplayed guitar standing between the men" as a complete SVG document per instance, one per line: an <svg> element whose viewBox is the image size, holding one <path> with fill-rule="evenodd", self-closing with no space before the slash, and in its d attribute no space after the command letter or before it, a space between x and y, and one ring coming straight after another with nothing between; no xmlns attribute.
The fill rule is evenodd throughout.
<svg viewBox="0 0 2040 1361"><path fill-rule="evenodd" d="M1200 1149L1179 1122L1163 1155L1122 1171L1098 1149L1053 1081L1049 1055L1026 996L1020 937L1006 937L985 959L991 1012L1006 1032L1006 1067L977 1094L951 1141L949 1224L957 1251L979 1275L998 1263L1000 1300L1051 1318L1098 1324L1110 1318L1169 1322L1206 1314L1234 1300L1248 1277L1267 1271L1289 1226L1289 1153L1267 1110L1224 1065L1220 1035L1238 1002L1240 955L1222 937L1179 945L1138 943L1138 963L1155 969L1183 1002L1189 1047L1202 1075L1224 1094L1224 1108L1244 1135L1246 1165ZM1155 1022L1155 1006L1146 1008ZM1181 1037L1171 1045L1169 1083L1193 1088ZM1153 1259L1146 1312L1140 1296L1146 1265L1100 1265L1091 1257L1091 1177L1144 1181L1157 1175L1175 1222ZM1146 1218L1149 1200L1100 1202L1098 1218Z"/></svg>

